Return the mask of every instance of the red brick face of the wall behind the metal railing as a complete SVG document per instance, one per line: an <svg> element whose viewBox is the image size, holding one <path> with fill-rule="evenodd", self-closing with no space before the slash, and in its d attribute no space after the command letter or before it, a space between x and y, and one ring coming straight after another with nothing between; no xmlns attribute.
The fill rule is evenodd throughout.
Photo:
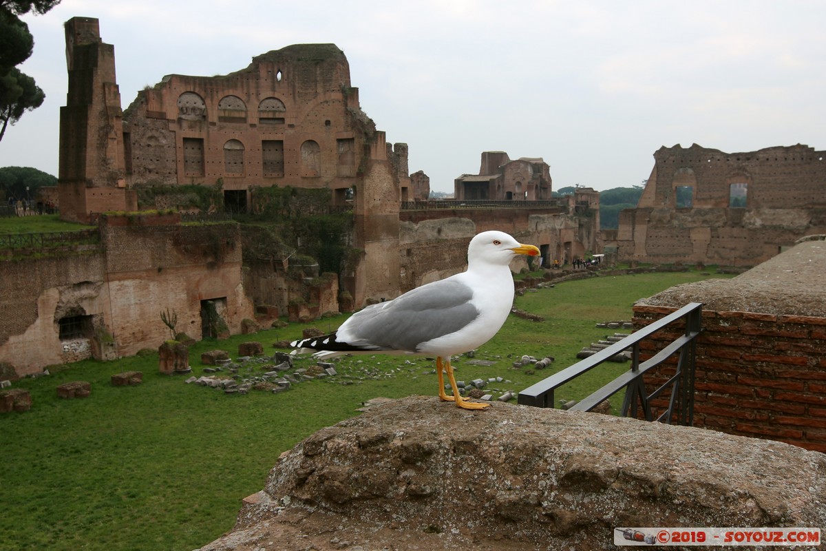
<svg viewBox="0 0 826 551"><path fill-rule="evenodd" d="M634 329L674 310L635 306ZM676 336L657 335L659 340L643 343L644 358ZM824 350L826 317L704 311L694 425L826 452ZM648 380L648 392L673 373L673 365L661 368Z"/></svg>

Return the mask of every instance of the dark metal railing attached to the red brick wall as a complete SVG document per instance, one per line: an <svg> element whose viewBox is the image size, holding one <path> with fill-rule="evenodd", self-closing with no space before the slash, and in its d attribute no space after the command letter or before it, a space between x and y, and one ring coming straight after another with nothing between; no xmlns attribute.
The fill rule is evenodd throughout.
<svg viewBox="0 0 826 551"><path fill-rule="evenodd" d="M591 411L602 401L614 396L625 389L621 414L624 417L638 418L640 410L645 420L657 420L664 423L674 422L677 425L691 425L694 420L694 373L695 373L695 340L702 330L702 304L691 302L680 310L674 311L661 320L646 325L643 329L625 337L623 340L600 350L596 354L574 363L551 377L537 382L519 393L519 403L525 406L553 407L553 391L573 378L586 373L608 359L624 351L631 351L631 368L618 378L606 384L584 400L578 401L570 409L575 411ZM683 335L670 344L667 344L651 359L642 363L639 361L639 343L657 331L665 329L677 321L685 321L686 329ZM662 383L651 394L647 394L643 375L661 363L679 354L676 362L676 372ZM671 389L668 407L655 419L652 411L652 401Z"/></svg>

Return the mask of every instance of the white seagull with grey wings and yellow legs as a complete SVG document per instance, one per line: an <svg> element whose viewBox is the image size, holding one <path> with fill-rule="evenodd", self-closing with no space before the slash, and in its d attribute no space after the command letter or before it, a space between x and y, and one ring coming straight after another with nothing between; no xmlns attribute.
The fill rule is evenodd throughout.
<svg viewBox="0 0 826 551"><path fill-rule="evenodd" d="M450 357L487 343L505 323L514 300L508 264L517 254L538 256L539 249L502 231L483 231L468 245L463 273L367 306L330 335L295 340L293 354L309 351L319 359L342 354L435 356L439 398L466 410L484 409L490 404L459 396ZM453 396L444 392L444 373Z"/></svg>

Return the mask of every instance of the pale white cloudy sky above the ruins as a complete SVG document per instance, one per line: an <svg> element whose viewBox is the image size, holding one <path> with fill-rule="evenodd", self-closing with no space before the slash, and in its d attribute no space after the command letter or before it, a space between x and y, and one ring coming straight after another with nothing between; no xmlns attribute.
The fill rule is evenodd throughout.
<svg viewBox="0 0 826 551"><path fill-rule="evenodd" d="M662 145L826 149L822 0L63 0L23 17L35 51L21 69L46 100L7 130L0 167L57 175L75 16L115 45L124 108L165 74L335 43L364 112L436 191L486 150L544 158L553 188L603 190L642 183Z"/></svg>

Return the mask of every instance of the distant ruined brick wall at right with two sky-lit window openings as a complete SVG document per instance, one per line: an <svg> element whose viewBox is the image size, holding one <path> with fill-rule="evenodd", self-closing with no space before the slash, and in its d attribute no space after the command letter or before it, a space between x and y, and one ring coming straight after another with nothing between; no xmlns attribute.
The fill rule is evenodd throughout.
<svg viewBox="0 0 826 551"><path fill-rule="evenodd" d="M620 212L618 259L754 266L826 231L824 152L661 148L636 209Z"/></svg>

